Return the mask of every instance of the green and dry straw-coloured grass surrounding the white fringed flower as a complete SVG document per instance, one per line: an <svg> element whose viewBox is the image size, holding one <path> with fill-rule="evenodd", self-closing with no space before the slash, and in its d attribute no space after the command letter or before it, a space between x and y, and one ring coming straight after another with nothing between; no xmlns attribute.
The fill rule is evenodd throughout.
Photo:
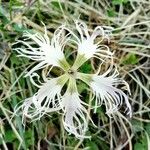
<svg viewBox="0 0 150 150"><path fill-rule="evenodd" d="M0 0L0 149L41 150L149 150L150 149L150 1L149 0ZM104 105L90 112L91 139L68 135L59 114L38 121L14 114L17 104L36 92L25 72L34 65L12 51L26 30L44 33L43 23L52 37L62 23L75 28L83 20L91 31L98 25L114 27L108 46L114 51L115 65L129 83L133 115L112 118ZM43 23L42 23L43 22ZM66 56L71 52L68 49ZM71 63L71 58L68 58ZM89 73L96 64L87 62L80 69ZM105 68L103 68L105 69ZM59 70L54 70L54 75ZM81 84L79 91L88 101Z"/></svg>

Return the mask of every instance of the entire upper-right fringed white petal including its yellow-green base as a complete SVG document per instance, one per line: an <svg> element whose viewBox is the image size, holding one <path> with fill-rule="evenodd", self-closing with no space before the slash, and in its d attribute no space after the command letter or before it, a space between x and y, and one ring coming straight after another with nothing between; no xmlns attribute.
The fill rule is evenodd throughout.
<svg viewBox="0 0 150 150"><path fill-rule="evenodd" d="M78 56L73 68L78 69L85 61L92 57L98 58L102 62L106 58L112 58L113 53L107 45L102 43L104 39L109 41L109 35L112 30L111 27L105 27L107 29L105 31L103 27L97 26L90 35L87 25L84 22L76 21L75 23L79 36L70 31L75 38L72 41L78 45ZM96 42L98 36L100 37L100 40Z"/></svg>

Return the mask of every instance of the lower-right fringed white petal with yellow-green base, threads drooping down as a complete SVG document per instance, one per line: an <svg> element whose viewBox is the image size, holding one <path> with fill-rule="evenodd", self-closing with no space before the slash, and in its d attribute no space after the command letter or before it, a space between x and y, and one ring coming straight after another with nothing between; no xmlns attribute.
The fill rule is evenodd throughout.
<svg viewBox="0 0 150 150"><path fill-rule="evenodd" d="M126 90L130 92L129 85L123 79L117 77L119 75L117 69L112 75L110 75L111 71L112 68L109 68L102 75L87 75L78 73L78 78L92 88L96 97L94 106L96 109L104 103L106 107L106 113L111 116L112 113L118 111L118 109L125 103L125 112L127 112L127 115L131 117L132 110L128 96L117 87L123 85L125 86Z"/></svg>

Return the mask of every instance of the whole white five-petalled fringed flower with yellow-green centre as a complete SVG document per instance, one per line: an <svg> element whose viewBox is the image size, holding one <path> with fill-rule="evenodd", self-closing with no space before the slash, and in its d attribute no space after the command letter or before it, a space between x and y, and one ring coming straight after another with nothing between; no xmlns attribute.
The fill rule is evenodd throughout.
<svg viewBox="0 0 150 150"><path fill-rule="evenodd" d="M29 76L31 83L38 87L37 92L32 97L25 99L19 109L22 108L23 118L26 116L32 120L40 119L43 115L51 112L59 112L63 116L62 122L66 131L83 139L89 137L86 136L87 120L91 120L91 118L87 106L95 108L96 112L96 109L104 105L108 116L119 111L123 104L125 104L123 110L131 116L131 106L128 96L120 88L124 86L129 92L129 86L127 82L118 77L117 69L113 69L113 52L103 43L104 39L109 42L112 28L98 26L90 34L85 23L76 21L75 26L75 31L65 26L59 27L51 40L45 28L44 35L27 32L24 36L28 38L28 41L19 41L25 46L15 49L20 54L19 56L37 62L37 65L26 76ZM77 55L72 66L67 62L64 54L68 41L73 41L76 46ZM111 60L108 61L110 68L104 73L81 73L80 66L91 58L96 58L103 64L107 59ZM50 77L47 77L45 67L50 68L48 71ZM62 70L60 75L55 78L51 76L51 69L54 67ZM42 69L44 73L41 75L43 83L39 81L39 69ZM37 77L39 83L36 83L34 77ZM89 86L93 93L94 106L89 106L84 102L84 98L78 92L77 80L83 81Z"/></svg>

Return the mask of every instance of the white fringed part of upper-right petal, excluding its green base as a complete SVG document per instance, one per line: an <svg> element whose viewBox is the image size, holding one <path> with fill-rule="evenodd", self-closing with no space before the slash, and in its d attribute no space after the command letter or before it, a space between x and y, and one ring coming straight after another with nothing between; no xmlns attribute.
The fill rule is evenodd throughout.
<svg viewBox="0 0 150 150"><path fill-rule="evenodd" d="M107 34L108 31L105 32L103 27L96 27L93 33L90 35L87 25L84 22L76 21L76 29L80 35L80 37L78 38L77 36L75 36L75 38L77 39L76 43L78 43L78 53L80 55L84 55L87 59L96 56L98 56L96 58L104 59L106 57L110 58L113 55L108 47L106 48L106 51L101 51L101 47L99 46L99 43L101 43L103 39L105 39L106 37L107 39L109 38L109 35ZM96 43L95 39L98 36L100 36L101 40ZM103 56L101 55L101 53L103 54Z"/></svg>

